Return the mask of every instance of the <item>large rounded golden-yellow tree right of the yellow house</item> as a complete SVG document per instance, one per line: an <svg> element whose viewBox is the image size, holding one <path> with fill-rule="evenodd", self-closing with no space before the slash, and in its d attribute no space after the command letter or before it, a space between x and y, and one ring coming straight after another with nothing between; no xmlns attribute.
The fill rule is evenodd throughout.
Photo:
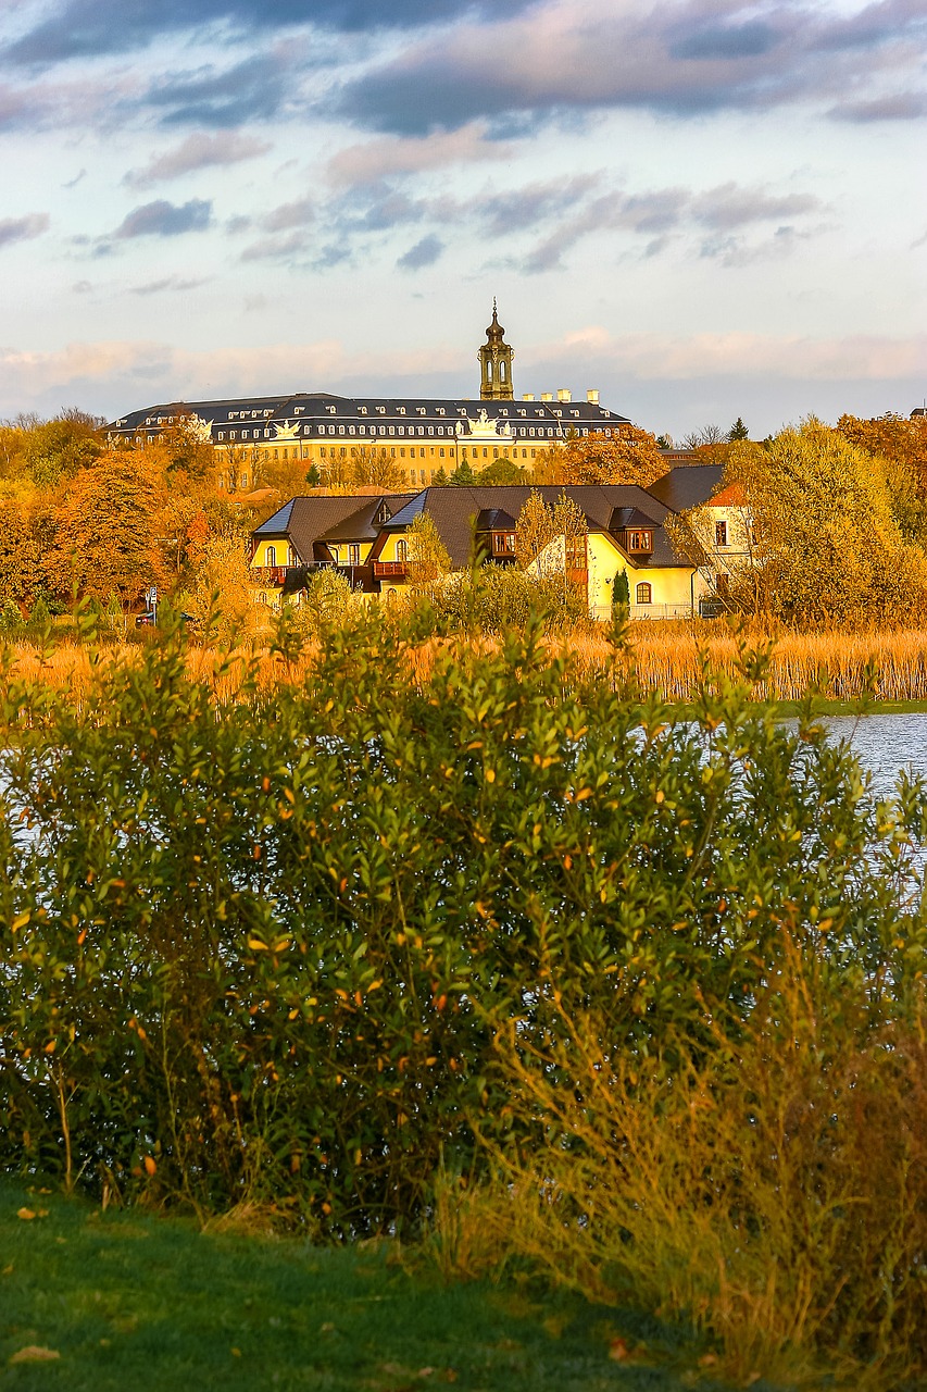
<svg viewBox="0 0 927 1392"><path fill-rule="evenodd" d="M811 419L735 445L728 479L746 496L756 554L754 574L731 578L735 600L746 585L802 625L924 615L927 557L902 535L882 464L842 432Z"/></svg>

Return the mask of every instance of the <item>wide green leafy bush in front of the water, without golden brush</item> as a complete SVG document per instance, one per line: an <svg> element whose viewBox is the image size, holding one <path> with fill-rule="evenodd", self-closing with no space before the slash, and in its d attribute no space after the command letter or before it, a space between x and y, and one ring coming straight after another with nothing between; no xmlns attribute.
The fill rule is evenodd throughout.
<svg viewBox="0 0 927 1392"><path fill-rule="evenodd" d="M920 788L876 802L810 715L750 706L749 663L682 715L530 618L412 682L415 625L362 614L306 664L284 624L278 686L234 700L181 632L79 703L7 671L3 1166L409 1231L438 1172L546 1144L505 1022L572 1094L565 1020L702 1066L788 927L855 1047L916 1031Z"/></svg>

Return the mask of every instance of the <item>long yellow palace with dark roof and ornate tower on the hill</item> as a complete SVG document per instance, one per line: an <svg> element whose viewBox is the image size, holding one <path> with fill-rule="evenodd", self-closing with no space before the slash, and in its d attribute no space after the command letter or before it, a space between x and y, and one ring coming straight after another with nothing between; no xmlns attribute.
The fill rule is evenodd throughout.
<svg viewBox="0 0 927 1392"><path fill-rule="evenodd" d="M433 401L423 397L335 397L298 391L239 401L175 401L120 416L111 436L139 444L157 438L182 418L195 418L203 434L230 462L281 457L326 469L337 457L360 450L388 451L402 483L422 487L441 469L451 473L468 461L476 470L493 459L511 459L530 470L539 452L590 432L611 434L628 418L599 404L587 391L515 400L514 351L493 306L493 322L479 351L480 400Z"/></svg>

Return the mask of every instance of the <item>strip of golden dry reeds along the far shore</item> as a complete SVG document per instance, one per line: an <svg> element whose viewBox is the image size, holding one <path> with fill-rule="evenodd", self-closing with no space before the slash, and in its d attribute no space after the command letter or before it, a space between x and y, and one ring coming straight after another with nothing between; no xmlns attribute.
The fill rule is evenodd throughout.
<svg viewBox="0 0 927 1392"><path fill-rule="evenodd" d="M793 702L814 689L831 700L859 700L866 695L881 702L927 702L927 628L827 631L816 633L763 631L735 633L729 628L700 624L632 624L631 650L618 658L618 671L633 668L646 690L660 690L670 700L689 700L703 668L735 677L745 651L770 650L767 674L756 683L757 700ZM409 675L426 682L437 654L468 642L480 651L496 651L498 642L482 639L427 639L408 649ZM551 653L569 653L579 674L592 681L611 681L615 653L596 632L550 639ZM11 647L10 675L67 693L77 704L88 697L95 672L109 664L136 664L143 649L114 643L92 651L79 643L61 643L52 651L29 643ZM251 668L259 693L271 695L281 682L302 681L312 671L317 647L308 644L291 661L270 646L246 646L231 654L191 644L187 656L193 679L207 682L217 700L234 700Z"/></svg>

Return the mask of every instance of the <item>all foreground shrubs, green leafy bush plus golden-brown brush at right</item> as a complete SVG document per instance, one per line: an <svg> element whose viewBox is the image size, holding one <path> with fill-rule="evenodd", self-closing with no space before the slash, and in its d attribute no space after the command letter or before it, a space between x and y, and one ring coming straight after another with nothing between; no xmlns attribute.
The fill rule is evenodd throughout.
<svg viewBox="0 0 927 1392"><path fill-rule="evenodd" d="M546 1265L739 1382L923 1368L924 791L764 717L759 658L682 713L615 642L6 672L0 1165Z"/></svg>

